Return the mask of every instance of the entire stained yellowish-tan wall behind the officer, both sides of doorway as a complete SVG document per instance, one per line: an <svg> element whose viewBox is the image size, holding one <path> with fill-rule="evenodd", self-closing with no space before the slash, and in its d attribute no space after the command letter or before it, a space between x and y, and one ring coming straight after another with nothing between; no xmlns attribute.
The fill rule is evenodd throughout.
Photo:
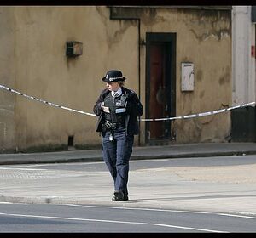
<svg viewBox="0 0 256 238"><path fill-rule="evenodd" d="M104 6L1 7L0 12L0 84L90 113L105 88L101 78L109 69L121 70L127 78L125 86L139 93L137 20L110 20L109 8ZM146 32L177 32L177 116L231 104L230 18L196 10L159 8L152 14L145 9L141 39ZM83 55L67 59L67 41L83 42ZM145 107L145 46L140 54L140 93ZM183 61L195 64L194 92L181 92ZM71 135L75 145L101 143L94 116L3 90L0 99L2 150L67 145ZM228 113L172 123L177 143L223 141L230 133ZM143 122L141 135L143 144Z"/></svg>

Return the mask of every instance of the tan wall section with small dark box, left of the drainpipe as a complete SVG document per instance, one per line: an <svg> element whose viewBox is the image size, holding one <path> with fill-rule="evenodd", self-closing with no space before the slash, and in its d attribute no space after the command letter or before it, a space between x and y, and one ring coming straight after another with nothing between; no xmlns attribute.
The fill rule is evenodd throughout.
<svg viewBox="0 0 256 238"><path fill-rule="evenodd" d="M2 9L7 12L7 8ZM13 16L8 31L15 33L2 42L15 42L12 48L15 59L9 65L18 91L92 112L98 94L105 88L101 78L110 68L122 70L128 78L127 86L136 90L137 41L128 37L137 32L133 22L110 22L106 7L10 7L8 10ZM76 59L67 59L65 55L66 42L71 40L84 43L84 54ZM74 144L100 143L95 133L96 117L16 98L19 149L67 144L71 135ZM8 100L14 99L9 94Z"/></svg>

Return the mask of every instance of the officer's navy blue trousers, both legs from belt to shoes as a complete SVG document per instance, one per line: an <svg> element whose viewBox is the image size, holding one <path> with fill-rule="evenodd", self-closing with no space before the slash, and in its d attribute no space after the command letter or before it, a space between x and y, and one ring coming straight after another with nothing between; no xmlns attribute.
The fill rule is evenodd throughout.
<svg viewBox="0 0 256 238"><path fill-rule="evenodd" d="M125 128L113 131L113 141L109 140L110 132L102 136L102 154L113 178L114 190L121 190L128 195L129 160L132 153L134 136L126 135Z"/></svg>

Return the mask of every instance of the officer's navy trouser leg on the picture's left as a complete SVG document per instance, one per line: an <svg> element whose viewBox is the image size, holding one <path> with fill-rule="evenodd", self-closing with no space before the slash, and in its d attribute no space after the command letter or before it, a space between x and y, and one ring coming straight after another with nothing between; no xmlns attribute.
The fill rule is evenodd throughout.
<svg viewBox="0 0 256 238"><path fill-rule="evenodd" d="M115 183L116 179L116 142L109 141L110 133L107 132L105 136L102 136L102 154L103 160L105 161L108 170L113 178L113 182Z"/></svg>

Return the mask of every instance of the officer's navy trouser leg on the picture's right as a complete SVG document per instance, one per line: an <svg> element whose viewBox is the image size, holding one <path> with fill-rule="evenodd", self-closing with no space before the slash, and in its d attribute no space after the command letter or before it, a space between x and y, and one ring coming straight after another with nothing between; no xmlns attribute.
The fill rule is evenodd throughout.
<svg viewBox="0 0 256 238"><path fill-rule="evenodd" d="M115 190L122 190L124 195L128 195L128 173L129 173L129 160L132 153L132 145L134 141L133 136L126 135L125 132L119 133L116 137L117 141L117 159L116 170L117 177L115 180Z"/></svg>

